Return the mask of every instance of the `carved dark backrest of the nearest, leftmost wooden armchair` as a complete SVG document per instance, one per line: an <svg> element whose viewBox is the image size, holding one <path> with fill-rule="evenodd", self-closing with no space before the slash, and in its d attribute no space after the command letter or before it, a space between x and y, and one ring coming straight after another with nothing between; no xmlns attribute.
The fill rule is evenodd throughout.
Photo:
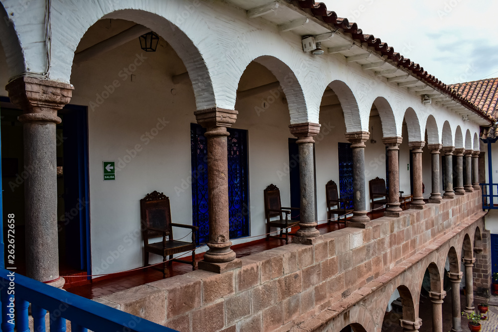
<svg viewBox="0 0 498 332"><path fill-rule="evenodd" d="M145 195L140 200L140 223L145 244L148 243L149 238L162 236L163 231L166 232L166 235L171 236L172 227L169 198L157 191ZM148 229L149 227L158 230Z"/></svg>

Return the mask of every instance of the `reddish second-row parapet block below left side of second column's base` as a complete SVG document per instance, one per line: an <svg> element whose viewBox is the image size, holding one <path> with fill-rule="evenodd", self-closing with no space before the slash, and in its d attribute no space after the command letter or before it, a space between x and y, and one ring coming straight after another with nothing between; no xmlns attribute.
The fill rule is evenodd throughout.
<svg viewBox="0 0 498 332"><path fill-rule="evenodd" d="M225 326L224 301L192 312L192 332L215 332Z"/></svg>

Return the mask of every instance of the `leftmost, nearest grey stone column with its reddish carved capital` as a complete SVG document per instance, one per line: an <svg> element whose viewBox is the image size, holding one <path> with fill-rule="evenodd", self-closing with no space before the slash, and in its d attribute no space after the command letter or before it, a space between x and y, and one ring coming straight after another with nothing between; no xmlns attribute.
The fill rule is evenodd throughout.
<svg viewBox="0 0 498 332"><path fill-rule="evenodd" d="M10 101L23 111L26 275L62 288L57 240L57 111L69 103L73 86L20 77L5 89Z"/></svg>

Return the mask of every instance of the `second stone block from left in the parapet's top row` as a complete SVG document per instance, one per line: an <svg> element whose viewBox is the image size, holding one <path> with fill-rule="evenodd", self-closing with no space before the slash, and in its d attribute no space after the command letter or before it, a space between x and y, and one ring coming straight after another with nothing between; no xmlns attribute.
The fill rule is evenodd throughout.
<svg viewBox="0 0 498 332"><path fill-rule="evenodd" d="M166 291L168 320L201 306L201 280L185 275L162 279L148 284Z"/></svg>

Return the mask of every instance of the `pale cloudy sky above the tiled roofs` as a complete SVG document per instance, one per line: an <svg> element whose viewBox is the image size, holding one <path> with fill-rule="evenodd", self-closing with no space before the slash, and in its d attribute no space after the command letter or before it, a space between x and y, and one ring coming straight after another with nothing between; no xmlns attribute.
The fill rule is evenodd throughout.
<svg viewBox="0 0 498 332"><path fill-rule="evenodd" d="M498 77L496 0L321 2L446 84Z"/></svg>

